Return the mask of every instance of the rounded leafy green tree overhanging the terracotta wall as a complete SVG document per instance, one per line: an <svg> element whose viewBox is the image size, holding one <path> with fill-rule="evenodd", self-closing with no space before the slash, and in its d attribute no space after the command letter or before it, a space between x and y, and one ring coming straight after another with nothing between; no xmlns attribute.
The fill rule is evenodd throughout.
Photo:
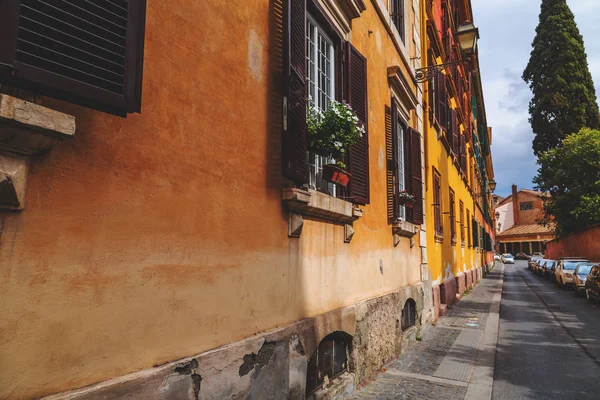
<svg viewBox="0 0 600 400"><path fill-rule="evenodd" d="M538 160L533 178L537 188L549 193L544 223L556 224L565 235L600 223L600 131L584 128L567 136L561 147Z"/></svg>

